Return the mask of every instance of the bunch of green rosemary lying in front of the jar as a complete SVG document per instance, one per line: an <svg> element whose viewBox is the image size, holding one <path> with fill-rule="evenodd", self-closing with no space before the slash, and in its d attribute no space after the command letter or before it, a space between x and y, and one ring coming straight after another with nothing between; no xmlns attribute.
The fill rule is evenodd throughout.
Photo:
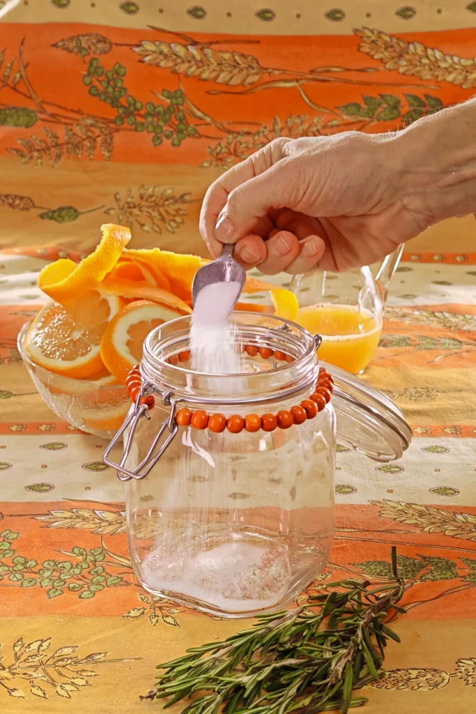
<svg viewBox="0 0 476 714"><path fill-rule="evenodd" d="M346 714L364 705L353 691L382 676L388 639L400 642L385 625L388 610L405 612L395 548L392 562L388 585L330 583L307 606L259 615L248 630L158 665L145 698L168 698L164 708L192 698L183 714Z"/></svg>

